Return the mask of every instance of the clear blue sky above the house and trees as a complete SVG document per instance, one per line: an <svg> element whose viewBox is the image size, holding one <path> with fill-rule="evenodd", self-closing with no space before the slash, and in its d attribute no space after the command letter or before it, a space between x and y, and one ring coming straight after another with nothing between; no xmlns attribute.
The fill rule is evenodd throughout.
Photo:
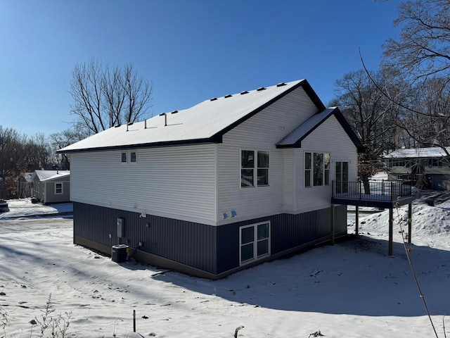
<svg viewBox="0 0 450 338"><path fill-rule="evenodd" d="M400 0L0 0L0 125L46 136L70 127L77 63L133 63L153 82L150 115L306 78L378 69Z"/></svg>

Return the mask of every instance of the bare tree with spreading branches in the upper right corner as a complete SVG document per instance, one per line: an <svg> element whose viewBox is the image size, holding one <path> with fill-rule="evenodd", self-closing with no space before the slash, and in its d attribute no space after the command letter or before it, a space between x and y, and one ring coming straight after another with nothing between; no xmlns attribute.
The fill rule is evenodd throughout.
<svg viewBox="0 0 450 338"><path fill-rule="evenodd" d="M413 0L399 5L397 39L383 45L385 83L372 78L402 115L395 121L411 146L449 146L450 0ZM398 96L398 93L401 93ZM446 152L447 156L450 156Z"/></svg>

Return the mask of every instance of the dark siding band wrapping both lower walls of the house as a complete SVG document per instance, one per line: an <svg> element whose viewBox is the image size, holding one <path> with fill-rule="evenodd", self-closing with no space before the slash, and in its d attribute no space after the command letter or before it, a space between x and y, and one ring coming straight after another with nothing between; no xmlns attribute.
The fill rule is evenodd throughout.
<svg viewBox="0 0 450 338"><path fill-rule="evenodd" d="M335 208L335 234L347 234L345 206ZM117 218L124 219L124 238L117 238ZM330 239L331 211L280 214L214 227L112 208L74 203L74 235L110 248L128 244L176 263L221 275L239 268L239 227L271 221L271 255L302 249ZM111 235L111 236L110 236Z"/></svg>

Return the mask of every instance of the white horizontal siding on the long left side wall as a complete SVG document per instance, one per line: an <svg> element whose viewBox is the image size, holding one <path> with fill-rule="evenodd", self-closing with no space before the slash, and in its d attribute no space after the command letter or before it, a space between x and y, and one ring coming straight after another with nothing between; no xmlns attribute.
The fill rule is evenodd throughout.
<svg viewBox="0 0 450 338"><path fill-rule="evenodd" d="M136 149L134 165L121 153L72 154L72 201L215 224L215 144Z"/></svg>

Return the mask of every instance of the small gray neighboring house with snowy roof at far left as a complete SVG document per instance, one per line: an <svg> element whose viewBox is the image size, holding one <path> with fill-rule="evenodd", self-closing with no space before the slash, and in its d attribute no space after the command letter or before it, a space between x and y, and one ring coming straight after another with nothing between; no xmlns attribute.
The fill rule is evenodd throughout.
<svg viewBox="0 0 450 338"><path fill-rule="evenodd" d="M34 170L34 197L42 204L70 201L69 170Z"/></svg>

